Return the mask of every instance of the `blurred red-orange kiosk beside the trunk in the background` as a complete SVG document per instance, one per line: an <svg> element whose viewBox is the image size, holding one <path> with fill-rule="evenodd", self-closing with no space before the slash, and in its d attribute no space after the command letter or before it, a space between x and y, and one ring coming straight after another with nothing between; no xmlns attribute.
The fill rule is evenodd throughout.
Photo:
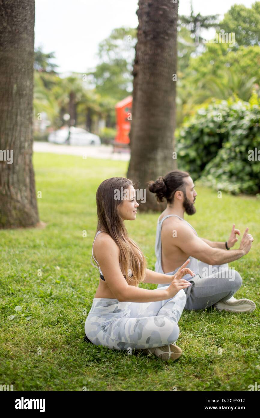
<svg viewBox="0 0 260 418"><path fill-rule="evenodd" d="M115 148L129 149L129 132L131 128L132 119L132 102L133 97L128 96L125 99L118 102L116 108L116 138L114 140Z"/></svg>

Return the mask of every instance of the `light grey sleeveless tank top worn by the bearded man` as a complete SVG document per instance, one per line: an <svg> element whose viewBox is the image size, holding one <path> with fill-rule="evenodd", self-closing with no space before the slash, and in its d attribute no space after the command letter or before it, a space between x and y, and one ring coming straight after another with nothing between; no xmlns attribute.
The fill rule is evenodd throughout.
<svg viewBox="0 0 260 418"><path fill-rule="evenodd" d="M196 235L198 235L198 234L195 231L195 229L191 226L191 224L189 224L189 222L185 221L184 219L182 219L178 215L166 215L160 221L158 220L158 222L157 222L157 230L156 230L156 240L155 240L155 255L156 255L155 271L157 273L163 273L163 274L173 275L181 267L180 265L174 271L171 271L169 273L164 273L164 271L162 270L162 241L161 241L162 223L164 222L164 219L167 219L170 216L177 216L177 218L181 219L183 222L186 222L194 230L194 232L195 232ZM195 274L199 274L199 265L198 265L197 258L188 257L187 260L189 258L190 258L190 262L187 265L187 267L189 267L192 271L194 271ZM185 261L187 261L187 260L185 260ZM183 276L183 278L185 280L191 280L192 279L191 275L189 275L189 274L186 274L185 276ZM163 287L163 286L167 286L167 283L159 283L158 286L157 286L157 288Z"/></svg>

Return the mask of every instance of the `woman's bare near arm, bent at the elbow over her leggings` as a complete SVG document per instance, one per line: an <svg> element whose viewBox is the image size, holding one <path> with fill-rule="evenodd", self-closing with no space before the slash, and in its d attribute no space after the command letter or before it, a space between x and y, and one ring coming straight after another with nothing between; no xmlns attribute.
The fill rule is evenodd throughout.
<svg viewBox="0 0 260 418"><path fill-rule="evenodd" d="M96 241L94 242L94 251L96 260L106 278L106 283L119 302L156 302L164 301L169 298L167 289L142 289L131 286L126 282L119 265L119 248L109 235L100 234L96 238ZM159 274L152 271L151 273L154 273L156 276ZM165 276L165 280L168 280L168 282L165 281L165 283L169 283L173 280L173 276L162 276ZM152 283L157 282L154 281Z"/></svg>

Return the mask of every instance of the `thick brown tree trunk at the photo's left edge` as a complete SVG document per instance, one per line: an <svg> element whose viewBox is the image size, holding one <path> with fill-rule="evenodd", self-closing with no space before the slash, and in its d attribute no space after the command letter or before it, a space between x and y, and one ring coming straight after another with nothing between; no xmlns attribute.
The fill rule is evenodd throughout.
<svg viewBox="0 0 260 418"><path fill-rule="evenodd" d="M0 0L0 228L39 222L32 163L34 19L34 0Z"/></svg>

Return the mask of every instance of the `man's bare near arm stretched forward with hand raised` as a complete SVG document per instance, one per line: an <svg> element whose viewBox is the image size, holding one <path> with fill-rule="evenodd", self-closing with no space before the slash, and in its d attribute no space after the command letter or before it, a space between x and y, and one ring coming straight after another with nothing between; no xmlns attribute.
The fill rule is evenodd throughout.
<svg viewBox="0 0 260 418"><path fill-rule="evenodd" d="M222 248L210 247L207 242L197 237L188 225L178 225L176 229L175 245L186 254L210 265L225 264L238 260L250 251L253 241L252 235L247 234L247 228L242 237L239 250L226 251Z"/></svg>

